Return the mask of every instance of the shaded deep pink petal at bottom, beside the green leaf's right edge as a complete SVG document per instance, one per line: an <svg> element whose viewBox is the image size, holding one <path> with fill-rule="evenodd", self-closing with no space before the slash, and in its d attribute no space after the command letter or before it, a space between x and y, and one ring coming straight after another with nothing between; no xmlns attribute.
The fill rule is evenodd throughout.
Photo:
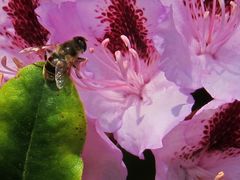
<svg viewBox="0 0 240 180"><path fill-rule="evenodd" d="M121 151L102 131L88 122L87 139L83 149L84 180L124 180L127 170Z"/></svg>

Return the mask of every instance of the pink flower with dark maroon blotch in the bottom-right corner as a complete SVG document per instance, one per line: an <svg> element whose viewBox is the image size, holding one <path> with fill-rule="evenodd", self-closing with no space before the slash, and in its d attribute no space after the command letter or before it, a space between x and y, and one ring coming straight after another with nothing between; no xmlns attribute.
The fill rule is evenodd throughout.
<svg viewBox="0 0 240 180"><path fill-rule="evenodd" d="M154 152L156 179L213 180L240 176L240 102L212 101L181 122Z"/></svg>

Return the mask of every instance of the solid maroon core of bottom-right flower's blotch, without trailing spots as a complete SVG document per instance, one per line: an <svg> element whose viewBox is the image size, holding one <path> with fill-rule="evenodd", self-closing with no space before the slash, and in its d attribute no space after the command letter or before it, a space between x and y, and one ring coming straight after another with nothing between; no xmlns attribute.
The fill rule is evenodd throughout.
<svg viewBox="0 0 240 180"><path fill-rule="evenodd" d="M226 156L240 153L240 102L219 108L204 126L200 142L208 152L223 152Z"/></svg>

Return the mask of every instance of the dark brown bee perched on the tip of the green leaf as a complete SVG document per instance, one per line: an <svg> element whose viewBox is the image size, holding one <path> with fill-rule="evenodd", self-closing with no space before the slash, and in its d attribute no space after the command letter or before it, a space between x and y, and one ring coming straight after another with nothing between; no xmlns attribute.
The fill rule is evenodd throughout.
<svg viewBox="0 0 240 180"><path fill-rule="evenodd" d="M48 46L40 48L28 48L26 51L40 51L47 49L49 57L45 55L46 63L43 67L43 76L47 81L55 81L58 89L64 87L64 79L69 75L72 67L77 68L78 64L85 61L85 58L79 57L87 49L86 39L81 36L76 36L69 41L56 46L55 50L51 51Z"/></svg>

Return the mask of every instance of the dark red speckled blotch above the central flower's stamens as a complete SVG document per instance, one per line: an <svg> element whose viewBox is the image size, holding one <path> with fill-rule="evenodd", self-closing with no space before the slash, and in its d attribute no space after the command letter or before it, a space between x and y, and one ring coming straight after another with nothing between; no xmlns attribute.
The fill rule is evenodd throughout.
<svg viewBox="0 0 240 180"><path fill-rule="evenodd" d="M126 35L139 56L149 63L154 48L152 40L147 37L147 18L144 16L144 9L138 8L135 0L110 0L105 3L108 4L106 9L100 7L96 9L96 12L100 14L96 18L101 23L108 24L104 37L98 40L109 38L108 48L112 53L116 50L124 52L127 49L120 39L120 35Z"/></svg>

